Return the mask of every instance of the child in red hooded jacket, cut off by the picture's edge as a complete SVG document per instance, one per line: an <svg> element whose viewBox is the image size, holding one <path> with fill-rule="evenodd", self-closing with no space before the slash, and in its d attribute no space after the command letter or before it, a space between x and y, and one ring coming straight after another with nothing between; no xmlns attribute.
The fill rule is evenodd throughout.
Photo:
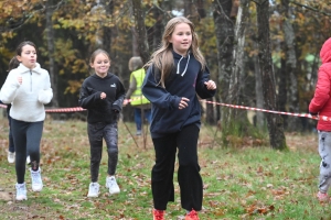
<svg viewBox="0 0 331 220"><path fill-rule="evenodd" d="M322 65L318 72L318 81L313 98L309 105L309 112L311 116L331 117L331 37L322 45L320 57ZM329 201L328 190L331 185L331 122L319 120L317 130L319 134L319 154L322 160L317 196L320 201Z"/></svg>

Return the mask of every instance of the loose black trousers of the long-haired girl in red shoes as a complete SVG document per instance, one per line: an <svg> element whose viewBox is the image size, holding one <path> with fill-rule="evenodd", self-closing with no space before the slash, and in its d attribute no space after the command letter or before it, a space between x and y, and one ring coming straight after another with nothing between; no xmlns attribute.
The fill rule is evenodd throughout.
<svg viewBox="0 0 331 220"><path fill-rule="evenodd" d="M174 201L173 172L178 148L181 206L185 210L201 210L203 183L197 162L199 132L200 129L192 124L180 132L152 140L156 151L156 164L151 172L154 209L166 210L168 201Z"/></svg>

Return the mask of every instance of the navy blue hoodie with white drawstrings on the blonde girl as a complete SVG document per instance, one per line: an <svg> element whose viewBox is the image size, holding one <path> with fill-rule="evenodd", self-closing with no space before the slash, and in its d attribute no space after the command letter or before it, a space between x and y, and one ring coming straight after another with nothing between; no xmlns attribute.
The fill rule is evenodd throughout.
<svg viewBox="0 0 331 220"><path fill-rule="evenodd" d="M201 124L199 98L206 99L216 90L207 90L204 85L210 79L207 67L201 70L201 64L192 54L183 57L173 52L174 66L162 88L160 70L151 65L142 84L143 96L152 103L151 136L161 138L168 133L181 131L189 124ZM179 109L181 98L190 99L189 107Z"/></svg>

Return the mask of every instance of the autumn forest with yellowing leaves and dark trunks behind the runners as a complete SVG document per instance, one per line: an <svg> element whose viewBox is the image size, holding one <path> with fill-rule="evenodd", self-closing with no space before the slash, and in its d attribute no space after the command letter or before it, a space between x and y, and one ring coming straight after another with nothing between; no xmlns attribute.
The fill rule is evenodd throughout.
<svg viewBox="0 0 331 220"><path fill-rule="evenodd" d="M147 62L177 15L193 21L217 95L204 106L204 122L222 129L223 143L237 136L287 148L284 132L311 131L316 121L223 108L220 103L307 113L313 96L319 51L331 36L331 3L312 0L30 0L0 1L0 85L18 44L36 44L50 72L54 98L47 108L76 107L88 59L96 48L111 56L111 73L129 86L128 61ZM218 103L218 105L215 105ZM85 112L53 118L85 118ZM124 121L132 121L130 107Z"/></svg>

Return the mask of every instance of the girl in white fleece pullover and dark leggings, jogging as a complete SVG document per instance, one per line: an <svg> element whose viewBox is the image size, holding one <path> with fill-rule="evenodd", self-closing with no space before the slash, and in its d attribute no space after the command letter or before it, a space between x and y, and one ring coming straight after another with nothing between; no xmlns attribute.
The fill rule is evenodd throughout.
<svg viewBox="0 0 331 220"><path fill-rule="evenodd" d="M26 151L31 160L33 191L41 191L40 142L45 120L44 105L53 98L49 72L36 63L36 47L22 42L15 58L20 65L12 69L1 88L0 100L11 103L11 132L15 146L17 200L28 199L25 176Z"/></svg>

